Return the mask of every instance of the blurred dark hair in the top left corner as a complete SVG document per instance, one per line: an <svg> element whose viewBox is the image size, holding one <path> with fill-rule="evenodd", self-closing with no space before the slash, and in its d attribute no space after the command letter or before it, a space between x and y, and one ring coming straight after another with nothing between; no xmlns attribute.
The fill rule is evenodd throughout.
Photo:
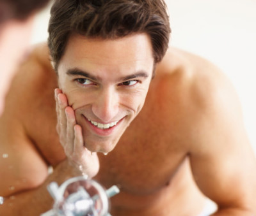
<svg viewBox="0 0 256 216"><path fill-rule="evenodd" d="M47 3L49 0L0 0L0 24L10 19L24 20Z"/></svg>

